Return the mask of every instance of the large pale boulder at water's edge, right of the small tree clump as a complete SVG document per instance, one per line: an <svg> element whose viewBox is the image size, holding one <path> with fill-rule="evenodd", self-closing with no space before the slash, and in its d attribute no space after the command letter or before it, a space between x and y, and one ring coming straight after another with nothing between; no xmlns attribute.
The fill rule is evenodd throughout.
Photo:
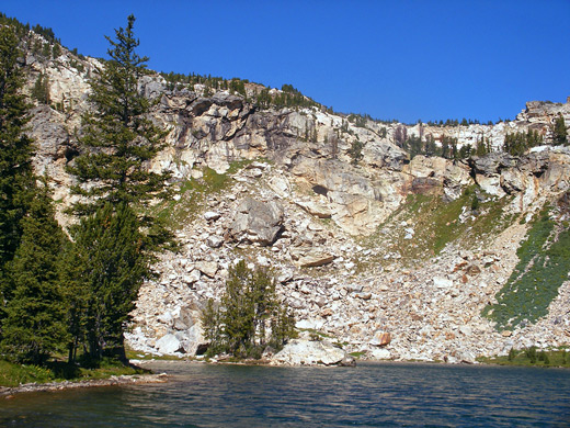
<svg viewBox="0 0 570 428"><path fill-rule="evenodd" d="M294 339L273 357L276 364L288 365L335 365L349 364L350 356L341 348L322 340Z"/></svg>

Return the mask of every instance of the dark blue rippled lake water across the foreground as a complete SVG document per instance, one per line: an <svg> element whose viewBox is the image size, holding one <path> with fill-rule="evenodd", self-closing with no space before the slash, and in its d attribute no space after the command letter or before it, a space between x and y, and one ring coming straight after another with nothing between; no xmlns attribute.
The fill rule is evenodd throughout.
<svg viewBox="0 0 570 428"><path fill-rule="evenodd" d="M164 384L16 395L2 427L570 427L570 370L157 363Z"/></svg>

